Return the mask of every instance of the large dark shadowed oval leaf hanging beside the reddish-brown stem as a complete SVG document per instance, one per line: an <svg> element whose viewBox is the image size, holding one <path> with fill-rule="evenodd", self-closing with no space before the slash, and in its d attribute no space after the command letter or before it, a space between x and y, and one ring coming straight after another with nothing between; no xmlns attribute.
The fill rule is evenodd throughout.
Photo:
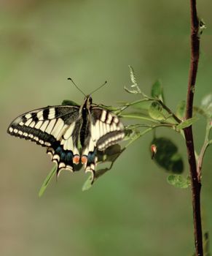
<svg viewBox="0 0 212 256"><path fill-rule="evenodd" d="M154 155L154 161L169 173L182 173L184 162L181 154L178 153L177 146L168 138L154 138L151 145L157 147L157 153Z"/></svg>

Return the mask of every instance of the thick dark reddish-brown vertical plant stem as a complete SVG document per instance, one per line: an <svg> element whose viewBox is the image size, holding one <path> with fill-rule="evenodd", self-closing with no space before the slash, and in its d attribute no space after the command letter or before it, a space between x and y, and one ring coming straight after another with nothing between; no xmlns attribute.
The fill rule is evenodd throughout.
<svg viewBox="0 0 212 256"><path fill-rule="evenodd" d="M199 20L197 18L196 0L190 0L191 12L191 60L189 70L189 83L187 90L187 110L186 119L192 118L193 99L195 94L195 82L197 77L197 67L200 56L200 38L198 37ZM197 177L197 164L195 159L195 146L193 140L192 126L184 129L187 144L187 156L189 161L189 172L192 182L192 206L195 235L195 249L197 256L203 256L203 235L200 211L200 190L201 183Z"/></svg>

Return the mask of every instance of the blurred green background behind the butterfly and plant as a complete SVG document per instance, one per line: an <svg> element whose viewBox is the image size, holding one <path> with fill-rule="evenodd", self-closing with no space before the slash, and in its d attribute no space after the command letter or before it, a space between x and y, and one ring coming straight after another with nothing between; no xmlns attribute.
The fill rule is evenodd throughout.
<svg viewBox="0 0 212 256"><path fill-rule="evenodd" d="M211 92L212 1L198 1L208 27L201 39L195 104ZM189 1L80 0L0 1L1 211L0 255L192 255L194 239L190 189L167 184L152 162L152 134L136 141L87 192L83 171L63 172L42 198L39 187L52 168L44 148L7 135L21 113L63 99L82 102L66 78L116 105L138 99L127 94L127 65L149 94L160 78L173 110L187 95ZM160 129L186 160L184 141ZM204 122L195 125L200 149ZM203 166L203 228L212 234L212 150ZM185 168L187 172L187 165Z"/></svg>

